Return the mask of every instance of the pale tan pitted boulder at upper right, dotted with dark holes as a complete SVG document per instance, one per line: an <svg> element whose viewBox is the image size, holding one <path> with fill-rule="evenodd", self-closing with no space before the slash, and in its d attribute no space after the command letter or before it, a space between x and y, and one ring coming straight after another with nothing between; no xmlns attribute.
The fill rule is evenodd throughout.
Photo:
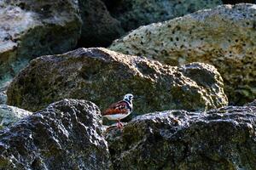
<svg viewBox="0 0 256 170"><path fill-rule="evenodd" d="M255 16L253 4L219 6L142 26L110 49L169 65L212 64L224 78L230 104L242 105L256 98Z"/></svg>

